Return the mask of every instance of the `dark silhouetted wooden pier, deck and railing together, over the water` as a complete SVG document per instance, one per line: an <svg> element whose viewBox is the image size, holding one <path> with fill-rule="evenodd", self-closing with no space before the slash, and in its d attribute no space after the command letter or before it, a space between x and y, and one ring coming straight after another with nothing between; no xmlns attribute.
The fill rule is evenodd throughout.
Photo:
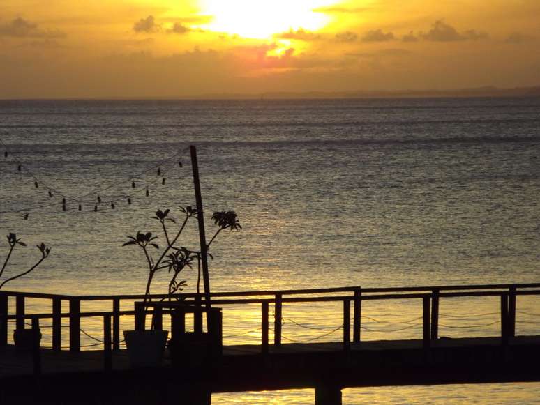
<svg viewBox="0 0 540 405"><path fill-rule="evenodd" d="M132 369L120 344L120 317L132 316L135 329L144 329L145 316L157 328L171 314L172 337L186 331L185 319L153 296L151 307L142 296L55 296L3 291L0 293L0 402L2 404L210 404L212 392L314 388L315 404L341 404L341 390L380 385L429 385L540 381L540 336L516 336L516 301L540 295L540 284L480 286L425 286L390 289L313 289L213 293L216 312L225 305L258 304L261 309L260 344L220 346L220 328L211 330L219 353L204 361L195 357L174 360L166 353L160 367ZM186 294L193 316L193 333L202 333L207 312L204 296ZM439 305L445 298L497 297L500 300L500 336L440 338ZM15 298L15 312L9 305ZM25 299L51 300L52 312L26 314ZM111 310L82 312L80 304L108 300ZM120 302L136 302L121 311ZM362 303L368 300L414 300L421 307L418 339L365 341L361 336ZM62 302L69 311L62 312ZM343 303L343 339L340 342L283 343L283 303ZM174 307L174 305L173 305ZM269 310L273 307L273 342L269 341ZM200 309L199 309L200 308ZM352 311L351 311L352 310ZM183 312L185 312L183 310ZM175 315L176 314L176 315ZM85 351L80 344L81 319L103 319L103 346ZM184 316L184 314L182 314ZM21 352L8 340L5 320L24 327L31 321L52 319L50 348ZM62 319L68 320L69 348L61 349ZM220 326L220 316L213 316ZM217 335L216 335L217 334ZM217 339L216 339L217 336ZM217 342L217 343L216 343ZM171 358L174 360L172 361Z"/></svg>

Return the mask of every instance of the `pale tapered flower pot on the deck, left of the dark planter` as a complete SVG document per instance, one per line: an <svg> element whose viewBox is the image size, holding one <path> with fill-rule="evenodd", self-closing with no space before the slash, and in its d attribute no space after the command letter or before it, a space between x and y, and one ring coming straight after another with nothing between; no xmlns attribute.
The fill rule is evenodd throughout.
<svg viewBox="0 0 540 405"><path fill-rule="evenodd" d="M159 367L168 335L168 330L124 330L131 367Z"/></svg>

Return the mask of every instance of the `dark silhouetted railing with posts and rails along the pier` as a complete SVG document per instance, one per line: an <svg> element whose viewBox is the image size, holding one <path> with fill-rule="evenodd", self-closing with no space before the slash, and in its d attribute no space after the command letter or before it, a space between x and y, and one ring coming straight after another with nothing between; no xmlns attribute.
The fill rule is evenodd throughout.
<svg viewBox="0 0 540 405"><path fill-rule="evenodd" d="M211 304L225 305L260 305L261 317L261 352L269 352L270 317L269 310L273 306L273 344L282 344L283 304L285 303L342 303L343 304L343 350L348 351L351 344L361 342L362 303L372 300L417 300L422 311L423 346L428 348L439 338L439 307L442 298L457 297L498 297L500 298L500 337L501 344L507 344L510 337L516 335L516 300L518 296L540 296L540 283L529 284L479 284L465 286L410 286L389 288L361 288L347 286L327 289L290 289L266 291L234 291L211 294ZM11 299L10 299L11 298ZM15 299L15 308L10 303ZM39 298L50 301L50 312L27 314L27 300ZM167 300L167 294L151 295L152 300ZM190 305L205 304L203 294L186 293L181 298ZM22 329L27 321L34 329L39 328L41 319L52 320L52 349L62 348L62 320L68 320L68 337L70 351L81 350L81 319L89 317L103 318L103 344L106 352L119 350L121 344L121 316L135 316L133 310L121 310L121 302L134 303L144 299L140 294L69 296L47 293L31 293L22 291L0 291L0 346L8 344L8 322L15 321L15 327ZM81 311L82 303L106 301L110 310ZM63 304L68 303L68 311L63 311ZM155 324L162 325L161 316L166 310L156 312L155 309L138 305L139 319L141 308L146 314L152 314ZM351 312L352 308L352 312ZM144 314L143 314L144 316ZM137 319L137 316L135 316ZM139 321L140 322L140 321ZM202 312L194 314L194 329L202 330ZM352 326L352 336L351 336ZM140 326L139 326L140 328Z"/></svg>

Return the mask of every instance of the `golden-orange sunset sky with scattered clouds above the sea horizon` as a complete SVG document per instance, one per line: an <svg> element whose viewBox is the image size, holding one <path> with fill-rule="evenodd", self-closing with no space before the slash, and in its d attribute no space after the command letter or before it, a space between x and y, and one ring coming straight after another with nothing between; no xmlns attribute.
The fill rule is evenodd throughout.
<svg viewBox="0 0 540 405"><path fill-rule="evenodd" d="M0 1L0 98L539 84L539 0Z"/></svg>

